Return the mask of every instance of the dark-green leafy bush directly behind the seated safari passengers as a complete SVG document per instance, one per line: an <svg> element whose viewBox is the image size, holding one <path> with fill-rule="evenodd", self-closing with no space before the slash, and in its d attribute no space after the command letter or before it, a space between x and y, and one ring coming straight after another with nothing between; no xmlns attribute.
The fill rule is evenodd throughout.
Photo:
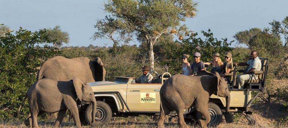
<svg viewBox="0 0 288 128"><path fill-rule="evenodd" d="M169 67L169 72L173 74L179 74L181 72L181 55L189 54L191 57L195 52L200 52L201 61L208 62L212 60L212 55L214 52L217 52L221 55L221 59L224 60L224 55L226 52L232 51L232 48L229 47L233 41L230 43L227 42L227 38L218 40L213 37L213 33L209 29L208 32L201 31L206 37L204 40L201 38L196 38L198 33L195 33L194 36L191 36L187 39L182 39L182 42L175 41L170 47L166 47L164 51L170 51L170 54L167 54L167 60L162 63L162 65L167 64ZM178 46L180 44L180 47ZM167 53L166 52L166 53ZM188 58L191 63L193 58Z"/></svg>

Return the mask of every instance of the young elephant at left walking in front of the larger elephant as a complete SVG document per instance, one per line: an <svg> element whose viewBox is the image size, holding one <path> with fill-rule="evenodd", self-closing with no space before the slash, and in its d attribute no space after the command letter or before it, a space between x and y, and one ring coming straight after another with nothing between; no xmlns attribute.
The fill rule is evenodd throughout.
<svg viewBox="0 0 288 128"><path fill-rule="evenodd" d="M28 90L27 98L31 116L30 126L38 127L37 116L48 112L59 112L53 127L59 127L67 109L71 113L75 124L81 127L77 101L86 101L93 104L92 123L96 114L96 99L90 85L83 83L79 78L73 81L54 81L51 79L40 79ZM31 121L32 120L32 121ZM32 122L32 124L31 124Z"/></svg>

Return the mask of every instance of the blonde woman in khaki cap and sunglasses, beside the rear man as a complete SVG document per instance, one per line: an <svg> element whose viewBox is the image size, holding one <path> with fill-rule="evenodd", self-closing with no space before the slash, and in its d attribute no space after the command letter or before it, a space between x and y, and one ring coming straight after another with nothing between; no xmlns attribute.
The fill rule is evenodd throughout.
<svg viewBox="0 0 288 128"><path fill-rule="evenodd" d="M225 73L229 73L233 68L232 54L230 52L226 53L225 62L220 68L222 69L222 73L220 74L221 77L226 77Z"/></svg>

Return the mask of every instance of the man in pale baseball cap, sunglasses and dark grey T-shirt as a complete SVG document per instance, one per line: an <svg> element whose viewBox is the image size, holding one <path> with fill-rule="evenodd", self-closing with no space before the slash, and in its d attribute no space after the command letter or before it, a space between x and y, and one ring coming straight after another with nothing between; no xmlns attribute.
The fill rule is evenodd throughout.
<svg viewBox="0 0 288 128"><path fill-rule="evenodd" d="M200 61L201 54L199 52L195 52L193 55L194 61L191 65L191 69L193 70L193 73L190 76L196 76L198 72L204 70L205 65L202 61Z"/></svg>

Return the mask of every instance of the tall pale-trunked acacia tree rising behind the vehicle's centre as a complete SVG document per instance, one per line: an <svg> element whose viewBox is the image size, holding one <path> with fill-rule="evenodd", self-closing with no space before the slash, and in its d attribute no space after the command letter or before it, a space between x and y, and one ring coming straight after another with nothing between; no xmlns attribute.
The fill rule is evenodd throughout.
<svg viewBox="0 0 288 128"><path fill-rule="evenodd" d="M157 39L164 33L177 34L181 38L189 35L191 31L181 22L196 16L196 6L197 3L192 0L109 0L104 3L104 10L111 16L98 20L97 24L105 24L103 30L116 30L122 35L136 35L145 39L153 70L153 46ZM99 38L103 30L98 29L94 38Z"/></svg>

